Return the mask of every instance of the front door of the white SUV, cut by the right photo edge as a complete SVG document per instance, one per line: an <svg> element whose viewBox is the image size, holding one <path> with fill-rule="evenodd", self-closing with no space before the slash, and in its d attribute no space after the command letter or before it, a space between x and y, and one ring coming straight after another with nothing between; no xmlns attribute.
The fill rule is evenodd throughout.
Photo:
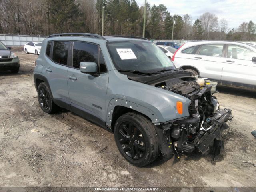
<svg viewBox="0 0 256 192"><path fill-rule="evenodd" d="M222 81L256 85L256 52L245 46L228 44L222 72Z"/></svg>

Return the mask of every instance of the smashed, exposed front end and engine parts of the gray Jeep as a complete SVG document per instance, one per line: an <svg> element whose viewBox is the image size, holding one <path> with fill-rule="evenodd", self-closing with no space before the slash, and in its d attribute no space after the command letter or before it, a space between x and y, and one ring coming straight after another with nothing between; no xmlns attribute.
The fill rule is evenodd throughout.
<svg viewBox="0 0 256 192"><path fill-rule="evenodd" d="M190 116L157 126L163 158L168 160L176 154L194 151L213 154L215 159L223 146L221 131L228 128L225 123L232 119L230 109L220 109L216 93L216 82L194 77L177 78L156 84L158 88L169 90L191 100Z"/></svg>

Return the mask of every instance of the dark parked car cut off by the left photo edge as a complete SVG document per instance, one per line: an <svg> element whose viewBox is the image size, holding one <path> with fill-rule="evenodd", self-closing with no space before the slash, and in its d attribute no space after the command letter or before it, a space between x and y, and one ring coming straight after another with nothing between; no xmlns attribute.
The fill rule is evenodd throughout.
<svg viewBox="0 0 256 192"><path fill-rule="evenodd" d="M11 47L6 47L0 42L0 70L10 70L12 73L18 73L20 68L20 59L11 51Z"/></svg>

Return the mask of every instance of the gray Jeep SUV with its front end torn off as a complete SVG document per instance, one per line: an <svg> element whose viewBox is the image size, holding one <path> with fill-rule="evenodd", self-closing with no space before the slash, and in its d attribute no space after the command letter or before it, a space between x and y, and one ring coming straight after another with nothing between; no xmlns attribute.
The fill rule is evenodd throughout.
<svg viewBox="0 0 256 192"><path fill-rule="evenodd" d="M214 82L177 70L140 37L51 35L34 82L44 112L66 108L114 132L118 150L136 166L193 151L215 157L232 118L212 95Z"/></svg>

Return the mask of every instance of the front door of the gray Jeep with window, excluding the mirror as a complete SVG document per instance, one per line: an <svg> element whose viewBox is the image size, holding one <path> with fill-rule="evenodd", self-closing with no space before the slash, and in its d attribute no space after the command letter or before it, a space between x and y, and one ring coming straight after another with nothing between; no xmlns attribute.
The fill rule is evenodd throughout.
<svg viewBox="0 0 256 192"><path fill-rule="evenodd" d="M108 72L100 46L73 42L72 65L68 68L68 92L72 111L98 124L106 122L106 93ZM95 62L99 75L80 71L80 62ZM99 120L99 122L97 122Z"/></svg>

